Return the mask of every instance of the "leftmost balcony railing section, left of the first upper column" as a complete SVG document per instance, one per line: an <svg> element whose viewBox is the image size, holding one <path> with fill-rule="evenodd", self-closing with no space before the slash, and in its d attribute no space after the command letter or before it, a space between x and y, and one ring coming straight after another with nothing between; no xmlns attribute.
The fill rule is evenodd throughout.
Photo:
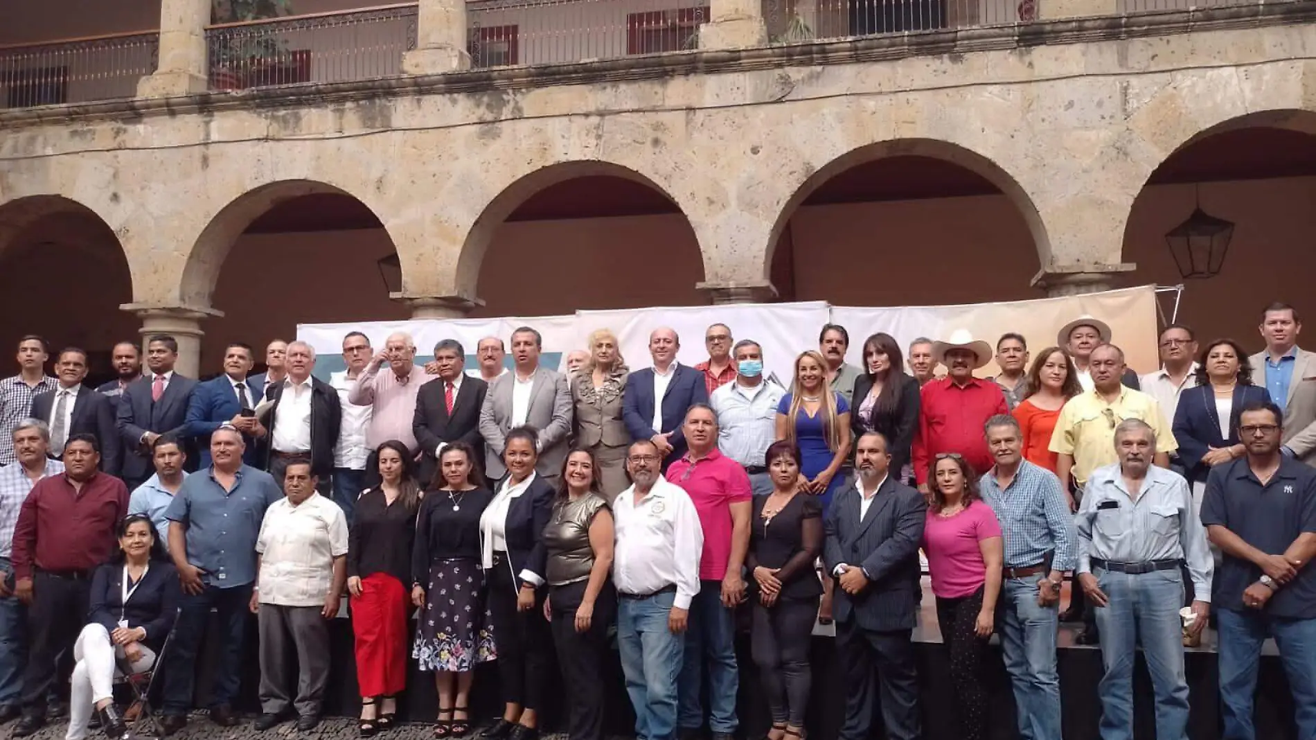
<svg viewBox="0 0 1316 740"><path fill-rule="evenodd" d="M154 30L0 46L0 108L133 97L158 57Z"/></svg>

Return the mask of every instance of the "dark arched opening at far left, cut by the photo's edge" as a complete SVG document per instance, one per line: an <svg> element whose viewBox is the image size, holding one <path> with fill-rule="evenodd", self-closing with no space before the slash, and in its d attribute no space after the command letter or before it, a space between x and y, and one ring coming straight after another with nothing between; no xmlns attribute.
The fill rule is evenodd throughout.
<svg viewBox="0 0 1316 740"><path fill-rule="evenodd" d="M124 249L91 208L54 195L0 205L0 375L18 338L41 334L51 353L88 352L88 383L112 379L114 344L138 338L137 317L118 309L132 300Z"/></svg>

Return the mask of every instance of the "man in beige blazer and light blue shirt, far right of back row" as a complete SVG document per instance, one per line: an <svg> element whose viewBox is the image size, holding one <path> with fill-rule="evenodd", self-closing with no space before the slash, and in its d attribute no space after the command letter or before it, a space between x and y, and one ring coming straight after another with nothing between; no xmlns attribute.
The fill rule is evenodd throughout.
<svg viewBox="0 0 1316 740"><path fill-rule="evenodd" d="M1303 321L1287 303L1271 303L1261 319L1266 349L1252 356L1252 381L1284 410L1283 453L1316 467L1316 353L1298 346Z"/></svg>

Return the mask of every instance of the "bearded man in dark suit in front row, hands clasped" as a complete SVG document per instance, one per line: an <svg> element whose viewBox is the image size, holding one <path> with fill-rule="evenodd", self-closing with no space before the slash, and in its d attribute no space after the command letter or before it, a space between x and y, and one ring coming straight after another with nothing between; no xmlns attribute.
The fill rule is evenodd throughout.
<svg viewBox="0 0 1316 740"><path fill-rule="evenodd" d="M915 740L921 733L911 637L928 504L919 491L887 474L890 463L886 437L878 432L861 436L855 486L836 495L822 521L822 561L837 579L833 614L845 666L840 740L869 737L879 695L887 737Z"/></svg>

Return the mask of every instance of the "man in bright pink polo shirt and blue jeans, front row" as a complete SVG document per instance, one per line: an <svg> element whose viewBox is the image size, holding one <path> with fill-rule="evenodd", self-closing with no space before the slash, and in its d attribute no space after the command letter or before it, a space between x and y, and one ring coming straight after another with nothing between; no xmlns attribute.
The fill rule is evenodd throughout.
<svg viewBox="0 0 1316 740"><path fill-rule="evenodd" d="M696 403L683 424L690 449L667 469L667 481L684 489L704 529L699 561L699 595L690 604L686 657L678 683L678 726L683 739L704 726L700 706L703 661L708 661L708 728L713 740L736 732L736 624L733 608L745 600L741 566L749 549L753 504L749 475L734 460L717 452L717 415Z"/></svg>

